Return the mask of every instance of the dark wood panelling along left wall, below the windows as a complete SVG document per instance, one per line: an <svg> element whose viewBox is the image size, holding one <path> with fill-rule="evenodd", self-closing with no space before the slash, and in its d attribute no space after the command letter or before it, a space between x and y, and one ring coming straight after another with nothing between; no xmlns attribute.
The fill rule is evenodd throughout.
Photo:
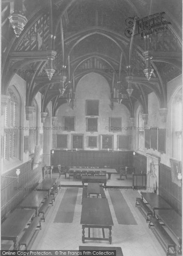
<svg viewBox="0 0 183 256"><path fill-rule="evenodd" d="M19 183L16 178L16 169L20 169ZM1 177L1 218L14 209L42 177L41 165L32 170L32 161L23 163L16 169L5 174L15 178Z"/></svg>

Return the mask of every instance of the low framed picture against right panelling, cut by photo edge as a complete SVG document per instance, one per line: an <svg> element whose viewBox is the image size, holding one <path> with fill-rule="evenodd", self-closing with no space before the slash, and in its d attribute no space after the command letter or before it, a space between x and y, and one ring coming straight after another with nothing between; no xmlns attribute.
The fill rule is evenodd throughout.
<svg viewBox="0 0 183 256"><path fill-rule="evenodd" d="M176 183L178 186L181 186L181 182L178 179L178 176L181 174L182 175L182 166L181 162L177 159L170 158L170 163L171 163L171 177L172 177L172 182Z"/></svg>

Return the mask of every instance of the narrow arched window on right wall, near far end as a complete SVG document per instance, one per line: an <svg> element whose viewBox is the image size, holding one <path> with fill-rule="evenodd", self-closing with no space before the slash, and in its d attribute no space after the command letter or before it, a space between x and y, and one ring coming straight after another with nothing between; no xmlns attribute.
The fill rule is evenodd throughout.
<svg viewBox="0 0 183 256"><path fill-rule="evenodd" d="M144 121L142 119L142 110L139 110L137 119L137 140L138 150L144 151Z"/></svg>

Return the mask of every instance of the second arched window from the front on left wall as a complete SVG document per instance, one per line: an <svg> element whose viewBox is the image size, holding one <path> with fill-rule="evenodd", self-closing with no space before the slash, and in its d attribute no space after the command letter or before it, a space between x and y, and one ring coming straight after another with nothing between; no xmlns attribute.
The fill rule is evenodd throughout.
<svg viewBox="0 0 183 256"><path fill-rule="evenodd" d="M37 102L33 102L34 111L32 112L31 119L29 121L29 154L33 154L35 146L37 145L37 133L38 133L38 105Z"/></svg>

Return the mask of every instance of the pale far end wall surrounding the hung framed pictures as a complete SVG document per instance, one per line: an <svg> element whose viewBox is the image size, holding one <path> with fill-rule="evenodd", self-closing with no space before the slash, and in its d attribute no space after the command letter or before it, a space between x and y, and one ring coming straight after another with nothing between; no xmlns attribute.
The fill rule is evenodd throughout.
<svg viewBox="0 0 183 256"><path fill-rule="evenodd" d="M76 131L68 132L63 130L55 130L53 134L68 134L68 149L71 149L71 134L84 134L84 150L90 150L87 148L87 136L98 136L100 134L114 135L114 150L117 150L117 135L131 134L131 130L125 131L123 129L120 132L112 132L105 127L109 126L109 117L122 117L122 127L131 126L129 122L130 113L125 105L119 105L114 103L113 110L110 109L110 87L106 79L96 73L89 73L84 76L77 84L76 87L76 107L74 110L68 106L68 104L61 105L57 113L57 122L55 127L64 127L64 116L76 116L75 128ZM86 131L86 100L93 99L99 100L99 116L98 116L98 131L87 132ZM89 117L89 116L88 116ZM54 136L53 148L56 148L56 140ZM99 140L98 140L99 142ZM98 143L97 148L92 150L100 150Z"/></svg>

